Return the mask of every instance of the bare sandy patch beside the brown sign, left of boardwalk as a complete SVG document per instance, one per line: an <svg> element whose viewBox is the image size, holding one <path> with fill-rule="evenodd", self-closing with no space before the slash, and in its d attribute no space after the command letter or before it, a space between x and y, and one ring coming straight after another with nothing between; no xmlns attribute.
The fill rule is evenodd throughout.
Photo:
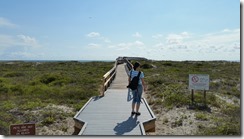
<svg viewBox="0 0 244 139"><path fill-rule="evenodd" d="M19 112L18 109L10 110L10 113L26 123L35 123L36 135L72 135L74 132L73 117L60 116L63 114L74 115L74 109L64 105L48 105L44 108ZM51 114L50 114L51 113ZM54 115L56 118L51 124L43 124L44 115Z"/></svg>

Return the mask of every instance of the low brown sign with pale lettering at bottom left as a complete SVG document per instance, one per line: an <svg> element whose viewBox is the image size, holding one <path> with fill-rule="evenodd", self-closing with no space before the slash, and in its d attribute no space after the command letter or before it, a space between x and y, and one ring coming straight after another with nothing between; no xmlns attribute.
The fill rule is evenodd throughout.
<svg viewBox="0 0 244 139"><path fill-rule="evenodd" d="M35 124L10 125L10 135L35 135Z"/></svg>

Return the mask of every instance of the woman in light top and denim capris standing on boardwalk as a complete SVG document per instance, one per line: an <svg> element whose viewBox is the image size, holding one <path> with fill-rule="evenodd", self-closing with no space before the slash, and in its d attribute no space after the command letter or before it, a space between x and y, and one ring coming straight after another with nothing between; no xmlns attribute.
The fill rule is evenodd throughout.
<svg viewBox="0 0 244 139"><path fill-rule="evenodd" d="M138 87L136 90L132 91L132 95L133 95L133 101L132 101L132 112L131 114L134 115L136 114L137 116L141 115L141 113L139 112L140 109L140 103L141 103L141 96L142 96L142 92L143 90L146 91L146 85L144 82L144 73L141 71L140 69L141 64L139 62L135 62L135 64L133 65L133 69L130 71L130 76L129 76L129 83L130 81L133 79L133 77L137 76L140 73L139 76L139 82L138 82ZM136 109L136 111L135 111Z"/></svg>

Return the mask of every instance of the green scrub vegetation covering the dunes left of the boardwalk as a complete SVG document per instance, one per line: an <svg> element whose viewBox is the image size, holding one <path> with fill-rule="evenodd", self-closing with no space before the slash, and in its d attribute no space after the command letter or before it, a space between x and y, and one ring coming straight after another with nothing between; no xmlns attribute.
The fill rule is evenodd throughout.
<svg viewBox="0 0 244 139"><path fill-rule="evenodd" d="M53 110L40 113L42 116L39 119L31 113L50 104L79 110L90 97L99 95L103 75L113 64L77 61L0 62L0 134L9 134L11 124L39 120L42 126L67 117L65 113Z"/></svg>

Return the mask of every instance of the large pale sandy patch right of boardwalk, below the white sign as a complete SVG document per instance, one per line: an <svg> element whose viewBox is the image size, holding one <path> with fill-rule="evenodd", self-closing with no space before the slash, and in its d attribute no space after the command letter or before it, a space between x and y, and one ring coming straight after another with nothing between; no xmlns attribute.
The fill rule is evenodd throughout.
<svg viewBox="0 0 244 139"><path fill-rule="evenodd" d="M144 93L146 99L148 95ZM187 107L174 107L169 111L163 107L154 107L152 110L156 116L156 131L147 135L194 135L199 123L208 124L207 121L197 121L195 112Z"/></svg>

